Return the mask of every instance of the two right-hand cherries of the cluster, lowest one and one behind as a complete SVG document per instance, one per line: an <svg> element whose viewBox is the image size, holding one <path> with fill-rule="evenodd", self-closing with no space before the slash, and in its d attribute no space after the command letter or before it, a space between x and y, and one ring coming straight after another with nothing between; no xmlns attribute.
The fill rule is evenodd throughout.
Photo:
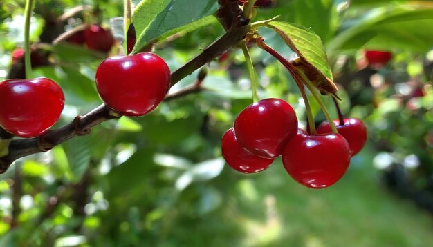
<svg viewBox="0 0 433 247"><path fill-rule="evenodd" d="M333 122L338 134L325 121L317 128L317 135L300 131L286 146L284 168L300 184L310 188L331 186L344 175L351 157L364 147L367 131L360 119Z"/></svg>

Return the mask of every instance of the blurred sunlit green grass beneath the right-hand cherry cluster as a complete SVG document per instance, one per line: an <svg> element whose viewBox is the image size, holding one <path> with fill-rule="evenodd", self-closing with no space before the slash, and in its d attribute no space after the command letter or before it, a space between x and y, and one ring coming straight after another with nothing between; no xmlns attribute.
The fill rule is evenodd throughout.
<svg viewBox="0 0 433 247"><path fill-rule="evenodd" d="M237 202L223 205L230 207L230 215L205 217L196 225L198 235L190 233L188 242L190 246L433 246L432 215L381 186L372 157L367 145L353 158L343 179L323 190L297 184L280 161L257 175L234 173L239 179L234 182ZM212 233L206 233L210 224L214 224L212 239Z"/></svg>

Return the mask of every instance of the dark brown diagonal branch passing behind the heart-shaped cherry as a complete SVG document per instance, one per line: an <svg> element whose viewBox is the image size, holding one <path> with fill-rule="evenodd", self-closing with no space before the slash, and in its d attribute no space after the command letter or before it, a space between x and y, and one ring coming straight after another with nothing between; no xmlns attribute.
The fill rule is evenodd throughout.
<svg viewBox="0 0 433 247"><path fill-rule="evenodd" d="M216 57L223 54L225 50L235 46L246 36L250 28L251 26L246 24L245 20L235 20L232 28L230 28L230 30L228 30L228 32L226 32L222 37L208 46L208 48L205 48L200 55L194 57L185 63L184 66L172 72L172 86L178 83L178 81L181 81L181 79L190 75L195 70L204 66L206 63L216 59ZM185 88L184 90L177 92L175 95L167 96L166 100L175 99L191 92L199 92L199 90L201 90L200 86L194 85L190 88ZM35 154L37 152L46 152L54 146L62 144L68 139L78 135L89 134L93 126L96 126L103 121L108 119L118 119L119 117L121 116L118 114L118 112L115 112L108 106L102 104L84 116L75 117L70 124L63 126L62 128L49 130L40 137L30 139L14 139L10 142L8 155L0 157L0 173L6 172L10 164L12 164L12 162L16 159Z"/></svg>

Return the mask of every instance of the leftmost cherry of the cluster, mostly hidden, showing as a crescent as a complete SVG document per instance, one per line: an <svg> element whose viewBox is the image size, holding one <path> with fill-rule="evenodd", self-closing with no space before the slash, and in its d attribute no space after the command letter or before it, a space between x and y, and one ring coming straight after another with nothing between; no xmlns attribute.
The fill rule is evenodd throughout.
<svg viewBox="0 0 433 247"><path fill-rule="evenodd" d="M253 155L243 148L234 135L234 129L230 128L221 139L221 152L225 162L238 172L254 173L265 170L274 159L266 159Z"/></svg>

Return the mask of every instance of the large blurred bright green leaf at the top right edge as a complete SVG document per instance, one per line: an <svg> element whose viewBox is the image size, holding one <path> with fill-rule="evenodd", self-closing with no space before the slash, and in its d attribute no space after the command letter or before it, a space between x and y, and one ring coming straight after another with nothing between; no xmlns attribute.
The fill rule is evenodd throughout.
<svg viewBox="0 0 433 247"><path fill-rule="evenodd" d="M400 49L425 52L432 48L433 8L399 5L376 8L340 32L327 46L330 54L339 50Z"/></svg>

